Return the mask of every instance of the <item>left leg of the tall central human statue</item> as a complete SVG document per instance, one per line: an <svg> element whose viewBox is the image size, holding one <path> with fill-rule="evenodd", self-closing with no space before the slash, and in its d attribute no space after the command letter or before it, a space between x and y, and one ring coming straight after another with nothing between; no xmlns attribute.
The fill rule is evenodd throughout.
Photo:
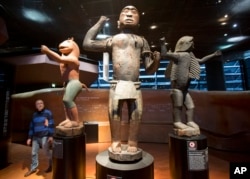
<svg viewBox="0 0 250 179"><path fill-rule="evenodd" d="M121 152L121 105L114 98L114 89L109 91L109 122L111 131L111 148L113 152Z"/></svg>

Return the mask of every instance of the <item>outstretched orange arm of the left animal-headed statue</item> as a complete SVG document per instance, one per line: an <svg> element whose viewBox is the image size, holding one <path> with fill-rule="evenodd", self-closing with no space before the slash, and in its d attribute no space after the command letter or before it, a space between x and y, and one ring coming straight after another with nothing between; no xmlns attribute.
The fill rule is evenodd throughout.
<svg viewBox="0 0 250 179"><path fill-rule="evenodd" d="M79 60L75 56L73 55L60 56L58 53L50 50L46 45L41 45L41 52L46 54L50 60L56 61L58 63L64 63L64 64L75 63L76 65L79 65Z"/></svg>

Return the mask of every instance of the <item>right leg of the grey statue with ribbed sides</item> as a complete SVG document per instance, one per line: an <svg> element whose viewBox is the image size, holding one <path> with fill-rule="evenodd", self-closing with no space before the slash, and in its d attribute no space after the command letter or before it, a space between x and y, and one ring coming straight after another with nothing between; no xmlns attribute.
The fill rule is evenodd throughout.
<svg viewBox="0 0 250 179"><path fill-rule="evenodd" d="M194 102L189 93L185 95L184 104L186 106L187 125L199 129L199 126L194 122Z"/></svg>

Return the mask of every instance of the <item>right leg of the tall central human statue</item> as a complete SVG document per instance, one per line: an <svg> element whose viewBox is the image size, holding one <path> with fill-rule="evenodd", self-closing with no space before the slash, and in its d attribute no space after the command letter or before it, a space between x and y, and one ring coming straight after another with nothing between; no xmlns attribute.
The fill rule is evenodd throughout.
<svg viewBox="0 0 250 179"><path fill-rule="evenodd" d="M138 133L141 124L141 117L143 111L143 101L141 91L137 91L136 100L128 100L129 113L129 138L128 138L128 152L136 152L138 150Z"/></svg>

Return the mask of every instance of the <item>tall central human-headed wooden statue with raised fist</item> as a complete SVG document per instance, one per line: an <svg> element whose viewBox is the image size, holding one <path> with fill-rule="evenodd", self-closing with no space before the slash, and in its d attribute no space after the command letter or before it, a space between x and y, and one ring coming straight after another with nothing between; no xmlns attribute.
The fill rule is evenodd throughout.
<svg viewBox="0 0 250 179"><path fill-rule="evenodd" d="M129 116L129 136L126 152L138 150L138 132L142 117L142 94L139 73L142 60L146 72L154 73L159 66L160 53L150 51L148 42L136 35L139 27L139 12L134 6L122 9L118 20L119 34L105 40L96 36L109 19L101 16L90 28L83 41L83 48L94 52L110 52L113 62L113 80L109 91L109 120L114 153L121 153L121 115L123 103L127 103Z"/></svg>

